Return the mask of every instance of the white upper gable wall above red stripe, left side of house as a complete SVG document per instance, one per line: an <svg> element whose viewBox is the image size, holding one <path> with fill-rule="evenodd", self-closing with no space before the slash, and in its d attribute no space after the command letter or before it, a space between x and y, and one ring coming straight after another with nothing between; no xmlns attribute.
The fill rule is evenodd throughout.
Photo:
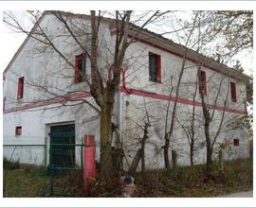
<svg viewBox="0 0 256 208"><path fill-rule="evenodd" d="M85 34L89 33L90 21L81 18L72 19L72 24L84 29L77 31L81 43L89 48L90 40ZM15 61L9 67L4 81L4 96L6 109L19 107L27 103L37 102L66 95L69 92L88 92L89 88L85 82L74 84L75 56L82 53L80 48L64 29L63 24L56 17L47 14L40 23L46 35L53 40L55 47L60 50L68 62L64 61L51 47L46 47L35 39L28 39ZM107 31L107 32L106 32ZM58 36L58 37L57 37ZM88 35L87 35L88 36ZM110 36L108 23L102 21L99 33L99 68L103 78L106 68L112 61L113 37ZM71 65L70 65L70 64ZM90 60L86 59L86 74L90 77ZM18 78L25 78L24 97L17 100ZM89 78L90 79L90 78Z"/></svg>

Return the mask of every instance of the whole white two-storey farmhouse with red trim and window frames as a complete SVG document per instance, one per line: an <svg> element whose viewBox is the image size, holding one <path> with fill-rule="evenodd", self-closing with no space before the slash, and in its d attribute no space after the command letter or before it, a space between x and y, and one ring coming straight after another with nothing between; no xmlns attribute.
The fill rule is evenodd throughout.
<svg viewBox="0 0 256 208"><path fill-rule="evenodd" d="M67 12L61 14L69 26L80 34L77 35L79 41L89 45L89 16ZM51 45L38 42L28 35L9 62L4 72L4 145L34 147L5 147L4 157L34 165L49 165L49 161L55 159L59 160L58 163L65 161L67 165L81 165L80 147L69 148L72 156L62 155L60 158L58 150L61 149L52 148L49 153L50 144L58 143L60 137L59 143L81 144L82 137L91 134L95 136L96 159L99 161L99 115L86 101L96 107L97 104L82 76L90 76L90 61L52 12L43 13L31 34L39 31L39 26L64 57L52 50ZM130 38L136 32L137 27L131 26ZM102 19L99 62L101 73L105 76L113 59L115 35L113 21ZM234 127L234 123L247 114L245 77L226 65L143 29L136 43L127 49L113 114L113 123L117 127L113 129L113 147L119 138L125 154L124 168L131 165L140 147L145 122L151 124L145 147L146 167L164 166L162 147L165 117L168 112L167 125L170 125L184 54L186 62L177 98L170 157L171 150L175 150L178 165L190 165L188 132L194 107L193 160L195 164L206 163L200 94L204 95L210 113L214 112L210 136L214 138L217 135L215 151L221 144L228 144L225 152L229 150L230 154L225 153L226 159L248 157L247 130L237 125ZM201 66L203 89L198 87L198 64ZM220 125L220 132L217 133ZM46 145L46 151L36 147L39 144Z"/></svg>

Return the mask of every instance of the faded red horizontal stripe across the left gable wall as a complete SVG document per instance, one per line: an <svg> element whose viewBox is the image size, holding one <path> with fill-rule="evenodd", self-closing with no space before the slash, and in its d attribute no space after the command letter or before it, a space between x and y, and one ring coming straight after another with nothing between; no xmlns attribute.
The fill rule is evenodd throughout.
<svg viewBox="0 0 256 208"><path fill-rule="evenodd" d="M42 107L42 106L47 106L47 105L51 105L51 104L56 104L56 103L66 103L67 101L71 100L71 99L78 99L78 98L84 98L84 97L88 97L91 94L89 93L78 93L78 94L72 94L72 95L67 95L64 97L56 97L53 99L48 99L48 100L44 100L44 101L38 101L38 102L34 102L34 103L29 103L20 107L14 107L8 110L5 110L4 113L13 113L13 112L19 112L19 111L25 111L27 109L32 109L32 108L38 108L38 107Z"/></svg>

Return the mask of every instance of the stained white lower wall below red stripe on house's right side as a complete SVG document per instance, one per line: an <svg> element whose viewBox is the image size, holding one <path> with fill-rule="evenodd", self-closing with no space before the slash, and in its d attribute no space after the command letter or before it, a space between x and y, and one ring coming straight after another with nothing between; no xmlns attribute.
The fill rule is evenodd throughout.
<svg viewBox="0 0 256 208"><path fill-rule="evenodd" d="M123 94L122 94L123 95ZM128 104L127 104L128 103ZM140 147L140 139L143 137L143 126L147 122L145 111L147 110L150 123L152 127L149 129L149 139L146 142L145 147L145 163L146 168L164 167L164 122L166 115L166 106L168 101L159 100L150 97L142 97L138 95L123 95L122 99L122 126L123 126L123 138L124 138L124 150L127 157L124 166L128 168L135 158L137 149ZM173 102L170 106L170 112L173 110ZM145 110L146 109L146 110ZM202 107L195 108L195 152L194 152L194 164L206 163L206 141L204 135L204 120L202 118ZM218 126L220 124L222 112L216 111L212 122L210 123L210 137L213 140ZM192 116L192 106L186 104L177 104L176 116L180 123L188 121ZM235 158L247 158L248 155L248 140L247 132L242 129L227 130L226 124L233 121L234 118L238 118L241 115L235 113L226 113L224 117L224 124L221 128L221 133L216 139L214 145L213 157L217 157L220 144L224 143L226 139L229 139L229 146L223 150L224 158L226 160ZM169 117L169 125L170 125ZM169 127L169 126L168 126ZM238 147L233 146L233 139L238 138L240 145ZM171 138L171 147L169 150L170 160L172 159L172 150L177 152L177 164L178 165L190 165L190 145L185 131L175 121L174 133ZM232 152L228 154L228 152ZM138 165L140 169L140 165Z"/></svg>

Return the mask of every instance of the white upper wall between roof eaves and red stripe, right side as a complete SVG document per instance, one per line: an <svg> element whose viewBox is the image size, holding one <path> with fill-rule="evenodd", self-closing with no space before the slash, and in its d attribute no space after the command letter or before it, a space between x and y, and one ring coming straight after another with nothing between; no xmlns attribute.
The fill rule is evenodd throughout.
<svg viewBox="0 0 256 208"><path fill-rule="evenodd" d="M156 83L149 80L149 52L153 52L161 56L161 81L162 83ZM169 95L170 94L170 79L173 77L174 91L176 89L177 80L181 71L182 58L160 50L154 46L145 43L134 43L126 52L126 85L127 87L144 90L152 93ZM202 67L207 76L207 91L208 95L205 97L206 102L213 104L217 95L219 86L220 95L218 96L217 104L224 105L224 100L221 97L228 95L227 106L236 110L245 110L244 100L246 99L246 86L233 78L229 78L222 75L210 68ZM195 84L187 84L188 82L196 83L197 66L192 61L186 61L184 73L181 79L181 85L179 90L179 97L192 100L192 95L195 91ZM220 80L223 79L220 85ZM230 95L230 81L236 83L237 102L231 101ZM228 92L229 89L229 92ZM198 91L197 91L198 92ZM197 95L196 101L200 101L200 96Z"/></svg>

